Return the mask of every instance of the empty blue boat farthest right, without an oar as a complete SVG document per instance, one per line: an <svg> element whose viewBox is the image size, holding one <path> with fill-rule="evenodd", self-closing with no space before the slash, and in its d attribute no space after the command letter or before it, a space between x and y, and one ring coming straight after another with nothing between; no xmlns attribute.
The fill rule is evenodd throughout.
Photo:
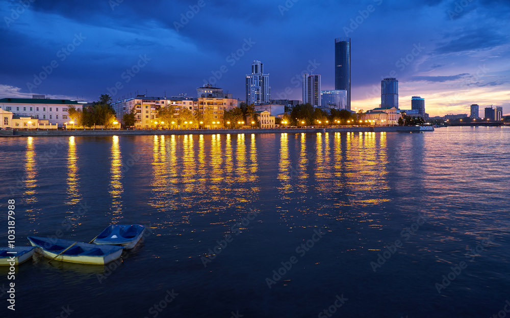
<svg viewBox="0 0 510 318"><path fill-rule="evenodd" d="M120 245L132 249L142 238L145 226L138 224L111 224L92 241L100 245Z"/></svg>

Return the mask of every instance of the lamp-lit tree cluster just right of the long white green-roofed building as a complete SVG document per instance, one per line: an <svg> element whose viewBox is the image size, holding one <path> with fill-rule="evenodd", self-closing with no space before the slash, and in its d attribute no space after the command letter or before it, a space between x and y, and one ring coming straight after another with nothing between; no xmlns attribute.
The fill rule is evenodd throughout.
<svg viewBox="0 0 510 318"><path fill-rule="evenodd" d="M111 100L110 95L103 94L99 97L99 101L84 106L83 111L77 110L71 105L67 109L69 118L77 126L92 127L98 125L107 128L111 127L115 122L115 111L111 106Z"/></svg>

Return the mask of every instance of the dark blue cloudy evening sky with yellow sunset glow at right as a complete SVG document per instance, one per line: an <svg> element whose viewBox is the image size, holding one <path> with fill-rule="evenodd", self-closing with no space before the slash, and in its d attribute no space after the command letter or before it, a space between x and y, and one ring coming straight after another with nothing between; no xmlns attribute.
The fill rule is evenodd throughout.
<svg viewBox="0 0 510 318"><path fill-rule="evenodd" d="M421 95L432 116L510 113L508 0L33 1L0 0L0 97L195 97L210 81L244 99L260 60L273 98L301 99L307 68L334 89L334 39L347 35L352 109L377 107L392 75L401 109Z"/></svg>

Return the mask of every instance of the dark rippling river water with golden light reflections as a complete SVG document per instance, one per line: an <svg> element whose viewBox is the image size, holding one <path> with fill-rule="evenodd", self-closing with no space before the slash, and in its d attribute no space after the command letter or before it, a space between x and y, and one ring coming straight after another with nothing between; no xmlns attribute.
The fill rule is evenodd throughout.
<svg viewBox="0 0 510 318"><path fill-rule="evenodd" d="M15 313L1 268L1 317L507 314L505 127L3 138L0 167L0 246L9 199L18 246L147 228L105 267L35 255Z"/></svg>

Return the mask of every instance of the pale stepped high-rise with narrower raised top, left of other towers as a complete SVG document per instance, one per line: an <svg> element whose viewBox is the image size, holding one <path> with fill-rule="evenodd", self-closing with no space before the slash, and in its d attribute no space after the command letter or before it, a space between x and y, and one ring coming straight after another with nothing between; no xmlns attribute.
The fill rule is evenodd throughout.
<svg viewBox="0 0 510 318"><path fill-rule="evenodd" d="M246 75L246 103L259 105L270 100L269 74L264 74L260 61L251 63L251 74Z"/></svg>

